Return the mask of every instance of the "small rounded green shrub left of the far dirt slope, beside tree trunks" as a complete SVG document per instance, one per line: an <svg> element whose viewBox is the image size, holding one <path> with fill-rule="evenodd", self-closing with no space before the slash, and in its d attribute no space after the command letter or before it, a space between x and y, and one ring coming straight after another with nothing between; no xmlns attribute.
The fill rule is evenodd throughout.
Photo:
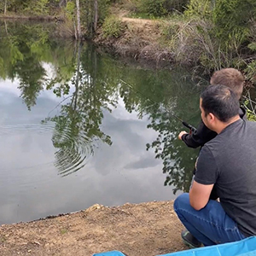
<svg viewBox="0 0 256 256"><path fill-rule="evenodd" d="M102 32L105 38L119 38L125 31L125 24L116 16L109 16L102 24Z"/></svg>

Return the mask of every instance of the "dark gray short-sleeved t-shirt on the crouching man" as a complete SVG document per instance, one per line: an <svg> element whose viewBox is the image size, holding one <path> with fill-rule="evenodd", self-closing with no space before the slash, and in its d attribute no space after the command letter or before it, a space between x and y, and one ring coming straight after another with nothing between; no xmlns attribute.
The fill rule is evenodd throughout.
<svg viewBox="0 0 256 256"><path fill-rule="evenodd" d="M201 149L195 181L215 184L224 211L256 236L256 122L237 120Z"/></svg>

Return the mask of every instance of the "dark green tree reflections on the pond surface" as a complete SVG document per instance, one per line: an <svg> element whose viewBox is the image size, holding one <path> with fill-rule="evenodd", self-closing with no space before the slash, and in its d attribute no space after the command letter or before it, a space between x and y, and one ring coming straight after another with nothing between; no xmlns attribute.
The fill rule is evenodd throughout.
<svg viewBox="0 0 256 256"><path fill-rule="evenodd" d="M54 123L55 166L61 176L78 172L94 154L97 142L111 146L111 137L102 131L103 113L110 113L121 99L129 113L148 119L148 129L157 131L145 149L154 150L155 158L162 160L165 185L172 185L174 193L189 189L198 150L177 140L183 126L170 115L175 113L192 125L198 122L198 91L186 79L188 72L126 65L100 55L91 44L58 41L51 26L0 23L0 29L6 32L0 40L0 77L19 80L27 108L37 103L42 90L52 90L62 99L60 112L42 121Z"/></svg>

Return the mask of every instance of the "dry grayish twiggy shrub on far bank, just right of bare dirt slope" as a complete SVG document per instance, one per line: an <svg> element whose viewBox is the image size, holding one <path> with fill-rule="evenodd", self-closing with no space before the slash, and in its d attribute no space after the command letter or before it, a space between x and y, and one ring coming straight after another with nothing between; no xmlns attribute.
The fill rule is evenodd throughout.
<svg viewBox="0 0 256 256"><path fill-rule="evenodd" d="M206 69L221 68L223 56L219 56L218 41L212 38L212 24L203 20L170 22L163 28L162 40L168 44L174 61Z"/></svg>

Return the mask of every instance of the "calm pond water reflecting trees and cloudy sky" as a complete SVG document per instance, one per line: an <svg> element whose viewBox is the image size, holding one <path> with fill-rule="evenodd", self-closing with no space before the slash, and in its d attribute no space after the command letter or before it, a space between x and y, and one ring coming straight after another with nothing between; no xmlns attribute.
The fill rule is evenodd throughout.
<svg viewBox="0 0 256 256"><path fill-rule="evenodd" d="M1 22L0 224L99 203L171 200L189 189L200 88L182 68L154 70Z"/></svg>

